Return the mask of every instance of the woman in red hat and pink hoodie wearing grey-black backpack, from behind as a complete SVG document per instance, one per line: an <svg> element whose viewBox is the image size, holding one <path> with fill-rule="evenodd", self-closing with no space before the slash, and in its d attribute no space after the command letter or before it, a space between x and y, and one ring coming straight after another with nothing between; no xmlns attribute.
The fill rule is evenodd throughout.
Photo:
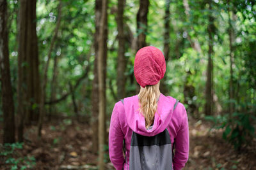
<svg viewBox="0 0 256 170"><path fill-rule="evenodd" d="M161 94L165 71L158 48L146 46L136 53L134 76L140 93L115 104L109 127L109 158L117 170L177 170L188 161L188 116L182 103Z"/></svg>

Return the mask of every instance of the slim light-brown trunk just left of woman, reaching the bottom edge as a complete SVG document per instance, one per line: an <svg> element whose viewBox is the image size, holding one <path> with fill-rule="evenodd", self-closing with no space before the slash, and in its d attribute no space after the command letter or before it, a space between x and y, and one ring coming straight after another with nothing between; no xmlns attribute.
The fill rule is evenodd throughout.
<svg viewBox="0 0 256 170"><path fill-rule="evenodd" d="M106 30L108 29L108 1L102 1L102 10L99 27L99 58L98 58L98 78L99 78L99 169L104 169L104 144L106 138Z"/></svg>

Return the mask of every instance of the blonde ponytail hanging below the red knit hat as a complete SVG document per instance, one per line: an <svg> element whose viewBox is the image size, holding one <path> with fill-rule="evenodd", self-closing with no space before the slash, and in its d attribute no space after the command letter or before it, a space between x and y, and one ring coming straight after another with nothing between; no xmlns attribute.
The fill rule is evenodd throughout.
<svg viewBox="0 0 256 170"><path fill-rule="evenodd" d="M157 111L157 85L147 85L138 96L140 113L145 117L145 126L148 129L154 123Z"/></svg>

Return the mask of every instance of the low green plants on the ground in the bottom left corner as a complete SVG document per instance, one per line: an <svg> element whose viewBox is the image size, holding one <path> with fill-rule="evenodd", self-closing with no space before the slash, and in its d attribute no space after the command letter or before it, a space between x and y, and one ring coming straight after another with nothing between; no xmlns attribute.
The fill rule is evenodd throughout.
<svg viewBox="0 0 256 170"><path fill-rule="evenodd" d="M36 164L35 157L19 155L17 150L23 148L23 143L5 143L0 144L0 157L3 157L5 167L11 170L33 169ZM2 158L1 158L2 159Z"/></svg>

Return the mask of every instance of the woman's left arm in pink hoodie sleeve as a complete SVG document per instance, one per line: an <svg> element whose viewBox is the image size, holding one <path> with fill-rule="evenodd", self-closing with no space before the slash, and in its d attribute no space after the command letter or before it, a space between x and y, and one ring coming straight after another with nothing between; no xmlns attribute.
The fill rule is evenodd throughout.
<svg viewBox="0 0 256 170"><path fill-rule="evenodd" d="M124 133L122 132L119 117L118 104L116 103L111 115L109 126L109 158L116 170L122 170L124 156L122 152Z"/></svg>

